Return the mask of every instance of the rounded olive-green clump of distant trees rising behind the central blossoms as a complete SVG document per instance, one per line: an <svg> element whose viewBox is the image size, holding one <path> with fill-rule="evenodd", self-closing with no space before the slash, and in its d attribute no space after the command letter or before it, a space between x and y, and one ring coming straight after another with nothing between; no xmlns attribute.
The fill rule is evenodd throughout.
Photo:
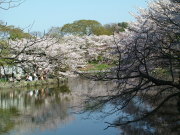
<svg viewBox="0 0 180 135"><path fill-rule="evenodd" d="M78 20L73 23L65 24L62 27L52 27L48 35L55 37L64 35L113 35L114 32L119 33L125 31L127 27L127 22L102 25L96 20Z"/></svg>

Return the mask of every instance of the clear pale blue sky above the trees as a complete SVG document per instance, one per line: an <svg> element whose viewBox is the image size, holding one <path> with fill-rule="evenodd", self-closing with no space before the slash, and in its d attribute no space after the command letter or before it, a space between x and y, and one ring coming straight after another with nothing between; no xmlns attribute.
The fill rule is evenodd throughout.
<svg viewBox="0 0 180 135"><path fill-rule="evenodd" d="M75 20L97 20L102 24L134 21L130 12L145 8L148 0L25 0L10 10L0 9L0 20L31 31L47 31Z"/></svg>

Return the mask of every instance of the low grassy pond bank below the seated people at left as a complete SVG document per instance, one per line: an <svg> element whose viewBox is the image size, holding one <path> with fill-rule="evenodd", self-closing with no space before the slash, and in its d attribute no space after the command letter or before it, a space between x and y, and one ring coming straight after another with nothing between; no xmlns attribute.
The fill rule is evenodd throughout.
<svg viewBox="0 0 180 135"><path fill-rule="evenodd" d="M37 80L37 81L24 81L24 80L22 80L20 82L0 82L0 89L60 84L60 83L63 83L65 81L67 81L67 78L54 78L54 79Z"/></svg>

